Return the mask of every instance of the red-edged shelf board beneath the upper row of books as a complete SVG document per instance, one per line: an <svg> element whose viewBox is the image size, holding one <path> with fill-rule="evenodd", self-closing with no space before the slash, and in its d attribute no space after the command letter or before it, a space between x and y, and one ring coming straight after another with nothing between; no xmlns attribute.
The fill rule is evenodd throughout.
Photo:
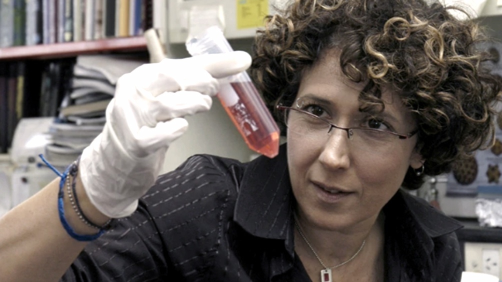
<svg viewBox="0 0 502 282"><path fill-rule="evenodd" d="M103 52L147 51L143 36L0 48L0 61L55 59Z"/></svg>

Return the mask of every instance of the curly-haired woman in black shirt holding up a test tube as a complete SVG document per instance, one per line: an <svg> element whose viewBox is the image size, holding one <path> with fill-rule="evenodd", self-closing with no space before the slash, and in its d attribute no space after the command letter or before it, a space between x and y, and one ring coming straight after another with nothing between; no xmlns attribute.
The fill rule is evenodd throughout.
<svg viewBox="0 0 502 282"><path fill-rule="evenodd" d="M142 66L61 188L1 219L2 280L459 281L461 225L400 187L493 139L499 81L478 27L418 0L299 0L283 15L250 69L286 125L279 156L194 156L151 187L182 117L249 58Z"/></svg>

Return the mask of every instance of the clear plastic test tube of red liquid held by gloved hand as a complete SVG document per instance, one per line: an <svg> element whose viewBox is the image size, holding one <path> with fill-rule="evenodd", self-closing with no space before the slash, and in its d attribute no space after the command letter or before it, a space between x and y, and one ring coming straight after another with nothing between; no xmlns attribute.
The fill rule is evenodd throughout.
<svg viewBox="0 0 502 282"><path fill-rule="evenodd" d="M189 38L186 47L192 56L233 51L218 27ZM279 128L247 73L220 80L217 96L247 146L269 158L277 156Z"/></svg>

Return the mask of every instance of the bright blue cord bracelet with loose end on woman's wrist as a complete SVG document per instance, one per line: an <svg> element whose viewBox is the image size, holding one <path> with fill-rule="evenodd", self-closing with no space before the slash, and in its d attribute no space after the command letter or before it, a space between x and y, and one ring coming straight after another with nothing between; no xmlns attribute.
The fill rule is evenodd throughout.
<svg viewBox="0 0 502 282"><path fill-rule="evenodd" d="M63 196L64 196L64 184L66 182L66 178L72 172L73 170L77 169L76 163L71 164L68 166L68 168L64 171L63 174L61 174L56 168L54 168L47 160L44 158L42 154L39 155L39 157L42 159L42 161L52 170L54 171L60 178L59 182L59 192L58 192L58 213L59 213L59 220L61 221L61 224L63 225L63 228L66 230L66 233L70 235L73 239L77 241L83 241L83 242L88 242L88 241L93 241L99 236L101 236L106 230L101 228L99 229L98 233L96 234L91 234L91 235L84 235L84 234L78 234L73 230L73 228L70 226L68 221L66 220L66 217L64 215L64 204L63 204Z"/></svg>

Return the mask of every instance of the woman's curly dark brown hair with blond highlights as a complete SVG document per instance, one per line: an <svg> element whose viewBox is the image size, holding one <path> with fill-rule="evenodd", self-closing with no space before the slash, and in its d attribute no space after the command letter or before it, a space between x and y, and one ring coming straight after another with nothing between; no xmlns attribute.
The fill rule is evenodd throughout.
<svg viewBox="0 0 502 282"><path fill-rule="evenodd" d="M272 110L293 103L306 68L341 51L343 73L367 81L359 110L384 109L382 86L400 93L416 116L424 174L439 175L492 143L500 90L478 48L488 38L451 10L463 12L420 0L297 0L258 31L250 74ZM402 186L420 188L424 174L410 167Z"/></svg>

